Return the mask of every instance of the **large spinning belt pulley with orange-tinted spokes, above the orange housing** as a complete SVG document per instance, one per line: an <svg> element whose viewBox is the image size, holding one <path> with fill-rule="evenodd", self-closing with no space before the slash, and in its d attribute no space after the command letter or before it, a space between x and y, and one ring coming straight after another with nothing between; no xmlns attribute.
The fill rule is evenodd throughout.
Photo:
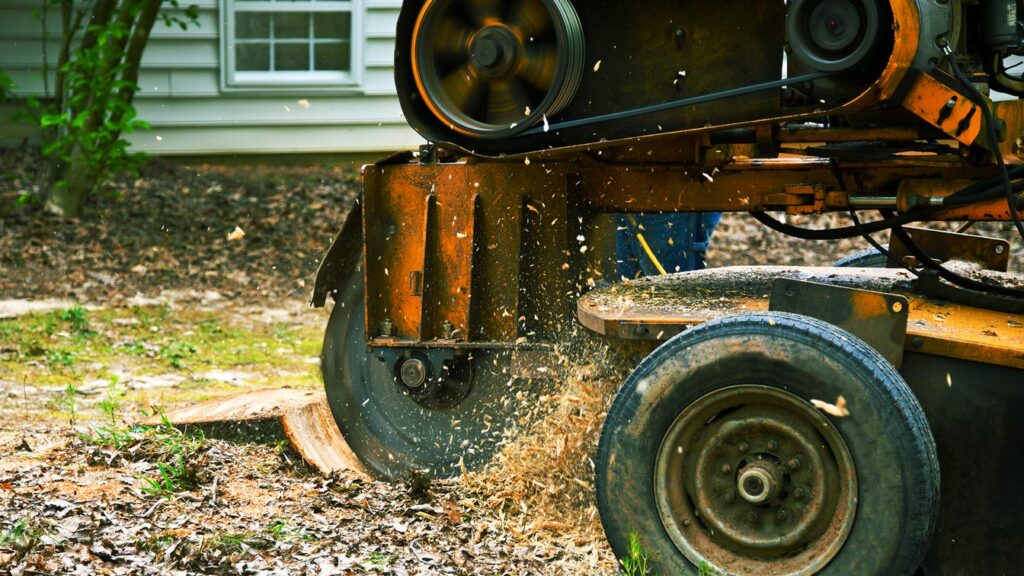
<svg viewBox="0 0 1024 576"><path fill-rule="evenodd" d="M444 125L501 138L571 101L584 50L568 0L427 0L413 33L413 75Z"/></svg>

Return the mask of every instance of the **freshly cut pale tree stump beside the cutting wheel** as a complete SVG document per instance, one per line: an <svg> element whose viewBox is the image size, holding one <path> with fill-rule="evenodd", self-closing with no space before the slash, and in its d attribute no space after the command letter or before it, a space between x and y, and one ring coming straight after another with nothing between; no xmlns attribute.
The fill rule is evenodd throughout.
<svg viewBox="0 0 1024 576"><path fill-rule="evenodd" d="M342 438L322 392L273 388L214 399L166 414L175 425L279 420L295 451L324 475L349 470L369 478ZM145 424L157 424L160 417Z"/></svg>

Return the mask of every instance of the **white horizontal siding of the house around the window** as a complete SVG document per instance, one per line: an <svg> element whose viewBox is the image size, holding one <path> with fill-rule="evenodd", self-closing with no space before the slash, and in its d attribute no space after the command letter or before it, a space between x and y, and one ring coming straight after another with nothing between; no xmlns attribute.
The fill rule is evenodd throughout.
<svg viewBox="0 0 1024 576"><path fill-rule="evenodd" d="M59 47L59 14L51 9L44 50L37 14L45 1L0 0L0 70L22 95L45 93L43 54L55 63ZM135 100L139 118L153 129L129 137L134 150L161 155L366 153L422 143L402 119L392 75L400 0L361 0L361 34L354 39L364 43L357 86L260 90L222 87L219 1L180 4L200 7L200 25L186 31L162 22L154 27ZM13 110L0 106L0 146L32 134L30 127L6 120Z"/></svg>

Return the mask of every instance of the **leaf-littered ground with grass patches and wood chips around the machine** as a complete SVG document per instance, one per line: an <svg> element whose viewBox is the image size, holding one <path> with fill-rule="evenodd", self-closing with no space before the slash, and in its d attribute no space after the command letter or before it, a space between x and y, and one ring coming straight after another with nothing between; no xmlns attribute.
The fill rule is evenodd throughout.
<svg viewBox="0 0 1024 576"><path fill-rule="evenodd" d="M130 425L248 389L322 387L328 311L305 298L354 171L156 162L61 220L18 205L38 162L0 153L0 573L615 572L589 457L622 367L575 367L539 400L556 424L453 481L324 478L272 435ZM734 214L709 260L823 264L864 247Z"/></svg>

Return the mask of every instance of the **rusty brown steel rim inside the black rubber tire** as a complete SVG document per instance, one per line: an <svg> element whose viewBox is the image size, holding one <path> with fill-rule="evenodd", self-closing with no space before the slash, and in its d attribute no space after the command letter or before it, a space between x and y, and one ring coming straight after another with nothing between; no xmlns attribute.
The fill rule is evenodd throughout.
<svg viewBox="0 0 1024 576"><path fill-rule="evenodd" d="M857 478L846 442L808 402L738 385L701 397L669 427L654 498L666 531L694 565L806 576L846 541Z"/></svg>

